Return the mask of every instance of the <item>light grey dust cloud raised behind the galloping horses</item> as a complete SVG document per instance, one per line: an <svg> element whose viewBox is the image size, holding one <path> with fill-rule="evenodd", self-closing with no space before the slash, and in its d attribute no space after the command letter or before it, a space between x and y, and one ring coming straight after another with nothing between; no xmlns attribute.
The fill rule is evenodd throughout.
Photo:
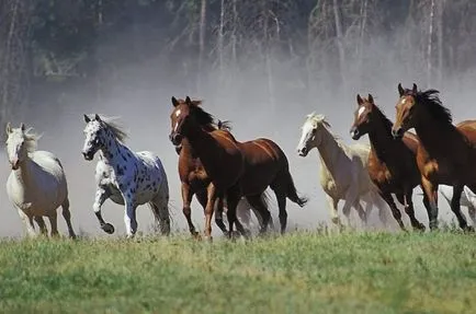
<svg viewBox="0 0 476 314"><path fill-rule="evenodd" d="M377 44L375 44L377 45ZM301 126L305 116L311 112L325 114L331 124L332 131L350 144L354 141L349 136L349 128L353 120L353 112L356 106L355 95L372 93L376 104L379 105L390 119L395 117L395 104L397 101L397 84L410 86L416 82L420 89L435 88L440 90L443 103L453 112L455 121L475 117L474 90L475 75L467 74L454 81L444 81L441 85L426 85L426 79L420 73L411 73L399 70L398 63L393 63L392 51L382 44L371 47L378 51L375 69L366 69L369 79L347 78L347 91L329 94L317 86L309 86L310 92L284 95L283 91L275 91L274 101L280 109L274 111L269 98L258 96L264 94L267 78L261 73L251 72L242 74L246 83L239 86L228 86L227 90L217 90L214 85L202 86L199 94L180 81L169 79L173 66L163 68L157 66L150 59L143 67L124 66L121 71L121 80L104 80L106 93L98 101L93 88L78 88L68 91L58 104L37 103L31 112L24 113L22 120L43 133L38 142L38 149L54 152L63 162L69 185L72 222L77 232L90 235L105 235L92 212L94 198L94 162L84 161L81 155L83 146L83 114L99 113L107 116L118 116L123 125L129 130L126 144L134 151L150 150L156 152L166 167L170 187L170 207L173 217L174 230L186 230L186 222L181 210L180 181L177 171L178 155L168 139L170 132L171 96L204 100L204 108L213 113L217 118L228 119L233 123L233 132L240 141L258 137L268 137L277 142L286 153L291 173L302 195L309 197L310 201L305 208L299 208L287 202L290 225L295 228L313 229L319 223L329 222L329 209L325 195L319 185L319 159L316 150L307 158L301 158L296 153L296 146L301 136ZM387 56L386 60L378 61L379 56ZM370 56L372 58L373 56ZM249 61L252 63L252 61ZM177 65L178 66L178 65ZM251 67L250 67L251 68ZM154 69L154 70L151 70ZM152 72L152 73L151 73ZM207 75L214 75L214 72ZM247 77L248 75L248 77ZM326 78L326 73L322 73ZM293 72L274 72L273 81L290 82L296 80ZM467 82L466 84L462 82ZM246 94L247 97L243 97ZM241 95L238 97L237 95ZM245 100L245 101L243 101ZM12 121L18 126L21 121ZM361 141L369 141L367 137ZM9 163L4 152L0 158L0 179L5 183L10 173ZM417 188L416 193L420 193ZM0 188L1 219L0 236L20 236L23 234L23 225L18 212L8 200L4 184ZM428 225L427 213L421 203L421 196L413 195L417 218ZM340 203L340 208L342 202ZM277 223L277 208L272 198L270 208ZM464 209L464 213L466 210ZM123 208L107 200L103 206L103 217L114 224L116 234L124 234ZM141 232L150 232L154 223L150 210L143 206L137 211L138 229ZM340 214L341 211L340 211ZM376 217L376 210L374 214ZM352 217L356 218L354 211ZM372 221L376 221L373 217ZM390 216L389 221L393 222ZM196 200L192 203L192 218L195 225L203 230L203 210ZM408 219L404 214L405 223ZM440 199L440 219L453 220L454 216L449 210L444 200ZM66 224L58 211L58 225L60 232L66 234ZM48 225L49 229L49 225ZM214 226L214 234L217 228Z"/></svg>

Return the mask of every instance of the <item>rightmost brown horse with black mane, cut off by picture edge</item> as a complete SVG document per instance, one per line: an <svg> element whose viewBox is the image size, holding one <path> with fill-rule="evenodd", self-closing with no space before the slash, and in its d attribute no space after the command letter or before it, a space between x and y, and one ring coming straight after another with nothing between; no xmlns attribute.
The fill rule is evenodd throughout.
<svg viewBox="0 0 476 314"><path fill-rule="evenodd" d="M460 198L465 185L476 193L476 120L454 126L437 90L418 91L417 84L404 90L398 84L398 92L400 97L392 133L401 138L406 130L415 128L420 138L417 164L430 201L430 229L438 229L438 185L446 184L453 186L451 209L460 228L474 231L461 212Z"/></svg>

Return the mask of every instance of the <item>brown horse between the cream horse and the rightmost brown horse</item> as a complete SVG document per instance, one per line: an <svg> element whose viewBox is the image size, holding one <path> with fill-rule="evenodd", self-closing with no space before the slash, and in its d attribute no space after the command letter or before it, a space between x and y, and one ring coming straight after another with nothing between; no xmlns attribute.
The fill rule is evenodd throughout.
<svg viewBox="0 0 476 314"><path fill-rule="evenodd" d="M405 132L403 140L395 140L392 136L392 121L375 105L371 94L369 98L362 98L358 94L356 102L358 108L350 133L354 140L369 135L371 153L367 168L372 182L390 207L401 230L406 229L392 194L395 194L397 200L405 207L411 226L424 231L424 225L415 217L411 200L413 188L421 185L421 176L415 159L419 144L418 138L410 132ZM428 198L423 197L423 203L429 207Z"/></svg>

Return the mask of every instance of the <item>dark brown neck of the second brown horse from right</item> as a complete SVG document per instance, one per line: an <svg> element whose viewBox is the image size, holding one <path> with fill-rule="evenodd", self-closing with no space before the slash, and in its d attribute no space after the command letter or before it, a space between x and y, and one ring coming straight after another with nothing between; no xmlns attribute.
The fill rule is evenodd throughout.
<svg viewBox="0 0 476 314"><path fill-rule="evenodd" d="M392 136L392 125L387 124L384 115L378 111L377 118L372 120L372 129L369 131L369 140L378 159L387 160L392 155L390 148L396 143Z"/></svg>

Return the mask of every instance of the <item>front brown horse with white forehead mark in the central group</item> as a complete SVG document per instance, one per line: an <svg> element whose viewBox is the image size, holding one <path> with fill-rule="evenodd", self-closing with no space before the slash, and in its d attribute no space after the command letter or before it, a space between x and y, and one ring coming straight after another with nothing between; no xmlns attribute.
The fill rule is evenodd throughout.
<svg viewBox="0 0 476 314"><path fill-rule="evenodd" d="M247 236L245 229L236 218L236 207L241 198L239 179L245 171L245 156L237 141L227 131L205 130L204 126L212 125L214 119L190 97L186 97L184 103L179 103L172 97L172 105L170 140L175 147L186 140L196 153L196 158L200 158L211 181L206 186L205 237L212 239L212 217L215 203L217 201L223 203L224 197L227 198L228 206L229 236L231 236L235 223L237 230Z"/></svg>

